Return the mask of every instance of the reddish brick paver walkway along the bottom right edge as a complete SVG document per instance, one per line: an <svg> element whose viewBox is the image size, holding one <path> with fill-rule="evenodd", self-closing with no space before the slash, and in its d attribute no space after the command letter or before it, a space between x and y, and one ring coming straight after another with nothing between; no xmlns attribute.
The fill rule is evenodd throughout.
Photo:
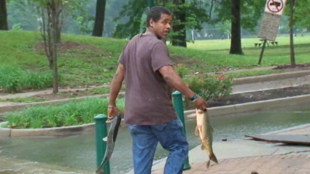
<svg viewBox="0 0 310 174"><path fill-rule="evenodd" d="M214 163L211 163L214 164ZM231 158L219 161L209 169L206 163L193 163L183 174L310 174L310 154L266 155ZM162 174L163 170L152 174Z"/></svg>

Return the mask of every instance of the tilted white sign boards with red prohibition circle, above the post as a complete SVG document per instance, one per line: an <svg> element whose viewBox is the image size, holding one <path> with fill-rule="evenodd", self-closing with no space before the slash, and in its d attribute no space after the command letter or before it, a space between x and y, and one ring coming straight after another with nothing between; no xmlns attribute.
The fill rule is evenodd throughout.
<svg viewBox="0 0 310 174"><path fill-rule="evenodd" d="M258 37L275 41L286 0L267 0Z"/></svg>

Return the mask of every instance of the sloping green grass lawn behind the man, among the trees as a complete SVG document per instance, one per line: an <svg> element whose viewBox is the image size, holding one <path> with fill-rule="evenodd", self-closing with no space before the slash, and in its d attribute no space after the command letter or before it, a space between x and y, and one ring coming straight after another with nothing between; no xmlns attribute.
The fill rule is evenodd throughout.
<svg viewBox="0 0 310 174"><path fill-rule="evenodd" d="M37 31L0 31L0 61L6 71L0 72L0 88L22 81L21 89L42 89L50 87L47 75L50 73L47 58L44 55L40 33ZM294 37L296 63L310 62L310 34ZM230 40L206 40L188 43L188 48L168 45L174 64L183 64L188 72L217 72L227 69L250 69L257 67L261 48L255 48L257 38L242 39L245 56L229 55ZM289 64L289 37L279 36L278 46L266 48L261 66ZM126 40L101 38L82 35L62 35L62 46L58 51L58 70L60 86L78 87L99 85L111 81L117 67L117 60ZM9 67L9 68L8 68ZM10 73L10 67L20 68L18 73ZM25 73L23 73L23 71ZM12 71L13 72L13 71ZM272 72L272 71L270 71ZM263 74L265 72L255 72ZM256 74L253 75L256 75ZM269 73L269 72L267 72ZM12 75L14 74L14 75ZM45 81L39 86L31 86L27 80L31 77L19 77L21 74L38 76ZM243 73L248 75L249 73ZM251 74L251 73L250 73ZM13 76L13 78L12 78ZM242 76L242 74L240 75ZM32 84L37 83L35 80ZM27 86L28 85L28 86ZM30 86L29 86L30 85ZM11 87L10 85L8 87Z"/></svg>

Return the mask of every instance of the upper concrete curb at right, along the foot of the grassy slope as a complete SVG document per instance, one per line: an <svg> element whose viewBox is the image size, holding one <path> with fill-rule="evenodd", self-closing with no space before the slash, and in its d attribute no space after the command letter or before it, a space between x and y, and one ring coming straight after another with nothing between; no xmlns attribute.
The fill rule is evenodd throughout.
<svg viewBox="0 0 310 174"><path fill-rule="evenodd" d="M283 79L302 77L306 75L310 75L310 70L285 72L285 73L277 73L277 74L269 74L269 75L258 75L258 76L251 76L251 77L242 77L242 78L234 79L234 85L242 85L242 84L248 84L248 83L257 83L257 82L265 82L265 81L273 81L273 80L283 80Z"/></svg>

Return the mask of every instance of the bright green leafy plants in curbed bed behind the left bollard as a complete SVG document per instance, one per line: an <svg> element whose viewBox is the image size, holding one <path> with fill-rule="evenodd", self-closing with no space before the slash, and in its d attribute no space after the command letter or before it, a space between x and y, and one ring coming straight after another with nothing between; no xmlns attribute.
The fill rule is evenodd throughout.
<svg viewBox="0 0 310 174"><path fill-rule="evenodd" d="M107 113L107 98L89 98L62 104L35 106L4 115L10 128L50 128L92 123L97 114ZM123 111L124 99L117 100Z"/></svg>

